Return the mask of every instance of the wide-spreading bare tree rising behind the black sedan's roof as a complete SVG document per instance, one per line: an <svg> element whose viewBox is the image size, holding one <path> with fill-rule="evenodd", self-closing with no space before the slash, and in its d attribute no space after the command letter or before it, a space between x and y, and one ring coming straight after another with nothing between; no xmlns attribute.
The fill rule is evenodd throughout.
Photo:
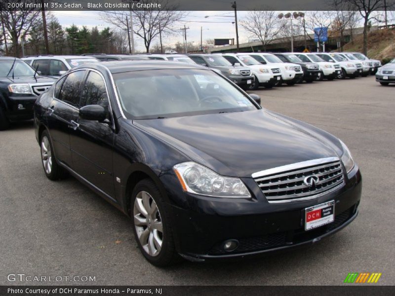
<svg viewBox="0 0 395 296"><path fill-rule="evenodd" d="M151 3L150 0L141 0L142 4ZM168 0L159 0L160 10L157 8L139 9L137 6L131 11L133 17L133 33L144 40L147 52L150 51L151 42L159 36L170 35L177 29L177 22L184 17L184 12L177 11L178 5L171 4ZM129 11L119 13L103 12L102 18L118 28L126 29L126 16ZM160 30L160 31L159 31Z"/></svg>

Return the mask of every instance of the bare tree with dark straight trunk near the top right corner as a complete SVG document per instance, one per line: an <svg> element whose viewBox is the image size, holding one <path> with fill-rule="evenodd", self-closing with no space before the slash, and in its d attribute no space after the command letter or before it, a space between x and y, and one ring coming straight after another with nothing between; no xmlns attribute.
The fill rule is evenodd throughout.
<svg viewBox="0 0 395 296"><path fill-rule="evenodd" d="M367 35L369 21L373 18L372 12L375 10L384 9L383 0L345 0L352 5L355 5L356 10L359 11L363 19L363 54L367 54ZM389 2L389 1L388 1ZM387 5L387 9L394 7L394 3Z"/></svg>

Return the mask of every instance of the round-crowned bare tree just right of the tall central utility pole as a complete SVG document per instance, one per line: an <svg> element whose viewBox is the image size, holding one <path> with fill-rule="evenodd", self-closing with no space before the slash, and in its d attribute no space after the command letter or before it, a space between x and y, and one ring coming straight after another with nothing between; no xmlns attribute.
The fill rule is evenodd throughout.
<svg viewBox="0 0 395 296"><path fill-rule="evenodd" d="M245 19L240 21L240 25L250 37L258 38L266 51L267 44L279 35L281 26L276 11L270 10L269 7L263 9L267 10L249 11Z"/></svg>

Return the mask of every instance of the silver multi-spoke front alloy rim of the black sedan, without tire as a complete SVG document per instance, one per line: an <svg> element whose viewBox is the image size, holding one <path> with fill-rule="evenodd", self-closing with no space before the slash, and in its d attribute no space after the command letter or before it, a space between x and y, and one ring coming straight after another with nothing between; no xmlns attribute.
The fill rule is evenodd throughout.
<svg viewBox="0 0 395 296"><path fill-rule="evenodd" d="M158 205L147 191L137 193L133 206L134 227L143 250L158 256L163 243L163 226Z"/></svg>

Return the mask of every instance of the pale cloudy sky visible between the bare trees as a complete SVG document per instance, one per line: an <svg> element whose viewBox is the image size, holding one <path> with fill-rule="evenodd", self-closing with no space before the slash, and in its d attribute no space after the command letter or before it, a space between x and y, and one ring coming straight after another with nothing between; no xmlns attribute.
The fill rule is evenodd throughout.
<svg viewBox="0 0 395 296"><path fill-rule="evenodd" d="M101 20L100 13L97 11L52 11L51 13L59 20L63 28L70 27L72 24L79 27L86 26L89 29L97 26L99 30L112 27L111 24ZM241 20L246 13L246 11L237 11L237 19ZM209 17L205 18L207 15ZM226 15L226 17L218 15ZM206 39L214 38L235 38L236 40L236 27L235 24L232 24L234 11L190 11L184 20L180 22L179 27L184 27L185 24L187 28L190 28L187 30L188 42L193 41L194 44L200 45L200 27L202 27L203 43ZM248 36L243 32L240 25L238 31L239 42L247 42ZM134 36L134 38L136 50L145 51L143 40L137 36ZM177 41L183 43L182 32L167 38L167 40L167 42L163 41L166 45L173 45ZM155 43L154 41L152 44Z"/></svg>

